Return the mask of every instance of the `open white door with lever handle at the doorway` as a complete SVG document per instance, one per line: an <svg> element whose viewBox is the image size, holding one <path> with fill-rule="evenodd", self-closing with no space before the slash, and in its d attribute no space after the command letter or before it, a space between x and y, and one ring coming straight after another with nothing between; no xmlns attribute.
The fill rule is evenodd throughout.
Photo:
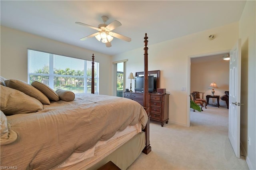
<svg viewBox="0 0 256 170"><path fill-rule="evenodd" d="M228 138L240 158L241 39L230 51Z"/></svg>

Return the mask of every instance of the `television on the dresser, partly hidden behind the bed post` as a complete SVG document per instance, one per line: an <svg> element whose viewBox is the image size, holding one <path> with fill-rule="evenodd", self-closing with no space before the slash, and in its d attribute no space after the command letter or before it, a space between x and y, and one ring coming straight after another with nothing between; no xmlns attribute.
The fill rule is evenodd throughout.
<svg viewBox="0 0 256 170"><path fill-rule="evenodd" d="M144 92L144 76L135 77L135 92ZM156 77L148 76L148 92L156 91Z"/></svg>

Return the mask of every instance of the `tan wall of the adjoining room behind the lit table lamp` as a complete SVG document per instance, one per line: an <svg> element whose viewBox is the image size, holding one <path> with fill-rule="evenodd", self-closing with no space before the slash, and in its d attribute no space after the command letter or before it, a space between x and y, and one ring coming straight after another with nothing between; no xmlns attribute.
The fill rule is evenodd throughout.
<svg viewBox="0 0 256 170"><path fill-rule="evenodd" d="M212 94L212 89L209 88L212 82L218 86L215 88L214 95L221 97L225 95L225 91L229 91L229 61L219 58L211 61L191 62L190 70L190 91L204 92L205 100L206 95ZM202 94L200 97L202 98ZM217 103L217 100L210 98L209 103ZM220 107L227 107L226 102L221 99Z"/></svg>

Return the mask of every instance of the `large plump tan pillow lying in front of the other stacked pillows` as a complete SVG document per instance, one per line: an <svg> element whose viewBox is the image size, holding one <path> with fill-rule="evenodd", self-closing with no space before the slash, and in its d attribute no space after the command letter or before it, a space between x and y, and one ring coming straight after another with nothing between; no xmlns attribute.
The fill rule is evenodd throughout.
<svg viewBox="0 0 256 170"><path fill-rule="evenodd" d="M42 103L21 91L1 85L1 111L5 115L34 113L43 109Z"/></svg>

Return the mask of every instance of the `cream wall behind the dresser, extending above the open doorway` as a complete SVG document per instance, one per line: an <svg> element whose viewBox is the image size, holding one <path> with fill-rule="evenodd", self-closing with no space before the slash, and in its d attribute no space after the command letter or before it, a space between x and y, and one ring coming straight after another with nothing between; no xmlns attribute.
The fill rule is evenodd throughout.
<svg viewBox="0 0 256 170"><path fill-rule="evenodd" d="M211 34L216 36L214 40L208 40ZM160 88L170 91L170 123L188 126L189 56L229 51L238 40L238 22L152 45L151 36L157 35L148 33L148 70L160 70ZM115 55L112 61L128 59L127 73L143 71L143 38L144 35L141 38L141 48ZM132 83L134 87L134 81ZM126 83L126 87L128 86ZM182 87L186 87L188 91L181 91Z"/></svg>

